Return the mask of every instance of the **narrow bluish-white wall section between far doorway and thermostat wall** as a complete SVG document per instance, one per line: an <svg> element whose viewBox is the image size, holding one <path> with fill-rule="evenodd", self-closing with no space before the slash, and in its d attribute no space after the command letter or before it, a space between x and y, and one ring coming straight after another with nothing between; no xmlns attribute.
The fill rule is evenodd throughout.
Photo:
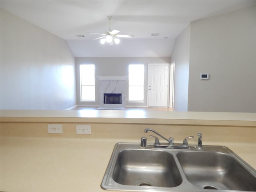
<svg viewBox="0 0 256 192"><path fill-rule="evenodd" d="M176 38L171 63L175 62L174 110L188 110L190 24Z"/></svg>

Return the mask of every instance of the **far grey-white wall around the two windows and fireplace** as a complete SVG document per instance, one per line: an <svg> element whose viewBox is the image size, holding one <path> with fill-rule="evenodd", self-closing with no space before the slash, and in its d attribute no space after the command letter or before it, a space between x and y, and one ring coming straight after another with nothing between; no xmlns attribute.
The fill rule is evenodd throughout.
<svg viewBox="0 0 256 192"><path fill-rule="evenodd" d="M129 64L144 64L144 102L126 102L126 106L147 106L147 76L148 76L148 63L170 63L170 57L91 57L91 58L76 58L76 82L77 82L77 104L79 105L95 105L98 106L99 102L99 81L95 78L95 102L80 102L80 64L94 64L95 76L127 76ZM128 96L128 78L126 78L126 96Z"/></svg>

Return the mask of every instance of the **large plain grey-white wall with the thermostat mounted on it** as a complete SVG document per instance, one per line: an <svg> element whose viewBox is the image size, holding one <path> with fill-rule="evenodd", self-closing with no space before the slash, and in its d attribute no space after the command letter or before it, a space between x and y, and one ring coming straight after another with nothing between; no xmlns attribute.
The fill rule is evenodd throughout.
<svg viewBox="0 0 256 192"><path fill-rule="evenodd" d="M256 112L256 6L192 22L190 30L188 111Z"/></svg>

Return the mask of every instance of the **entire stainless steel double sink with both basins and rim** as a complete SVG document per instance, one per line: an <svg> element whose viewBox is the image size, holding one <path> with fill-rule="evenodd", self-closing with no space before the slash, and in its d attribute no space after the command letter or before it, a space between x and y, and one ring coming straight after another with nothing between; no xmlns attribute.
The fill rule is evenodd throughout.
<svg viewBox="0 0 256 192"><path fill-rule="evenodd" d="M256 191L256 170L225 146L117 143L101 187L143 192Z"/></svg>

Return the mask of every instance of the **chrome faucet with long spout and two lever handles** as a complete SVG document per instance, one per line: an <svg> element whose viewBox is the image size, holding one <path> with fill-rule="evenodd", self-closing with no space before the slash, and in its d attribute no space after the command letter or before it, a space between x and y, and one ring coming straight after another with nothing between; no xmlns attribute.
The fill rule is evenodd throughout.
<svg viewBox="0 0 256 192"><path fill-rule="evenodd" d="M186 149L186 148L189 148L189 146L188 146L188 139L194 138L193 136L189 136L189 137L184 138L182 144L178 144L178 143L174 144L172 137L167 139L164 136L162 136L160 133L156 132L155 130L152 130L152 129L149 129L149 128L145 128L144 129L145 133L147 133L148 131L152 131L153 133L155 133L158 136L162 137L164 140L168 141L168 144L163 144L163 143L159 142L159 139L156 136L150 135L150 137L154 137L155 138L154 147L156 147L156 148L179 148L179 149Z"/></svg>

